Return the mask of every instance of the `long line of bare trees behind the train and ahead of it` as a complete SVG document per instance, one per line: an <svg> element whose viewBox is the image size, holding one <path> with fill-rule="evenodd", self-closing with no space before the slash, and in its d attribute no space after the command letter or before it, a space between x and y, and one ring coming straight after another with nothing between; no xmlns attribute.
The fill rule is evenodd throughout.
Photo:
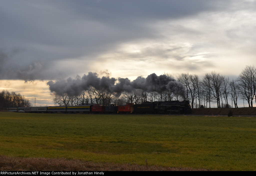
<svg viewBox="0 0 256 176"><path fill-rule="evenodd" d="M174 78L173 75L165 73ZM256 68L254 65L247 65L239 74L237 79L230 80L228 76L212 71L205 73L200 79L196 74L181 73L176 78L186 88L185 99L190 101L192 108L212 107L217 103L217 107L238 108L238 100L243 100L249 107L256 103ZM146 101L172 101L182 100L181 96L172 92L124 92L120 97L100 91L91 87L90 90L83 91L79 96L55 95L53 100L55 105L122 105L126 103L141 104Z"/></svg>

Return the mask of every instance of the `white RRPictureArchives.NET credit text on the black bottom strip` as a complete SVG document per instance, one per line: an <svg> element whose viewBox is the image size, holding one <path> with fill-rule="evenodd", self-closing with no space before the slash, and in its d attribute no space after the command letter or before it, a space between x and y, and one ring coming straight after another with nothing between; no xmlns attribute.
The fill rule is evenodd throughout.
<svg viewBox="0 0 256 176"><path fill-rule="evenodd" d="M9 174L15 174L15 175L24 175L24 174L42 174L42 175L58 175L58 174L61 174L61 175L87 175L87 174L92 174L92 175L104 175L104 172L39 172L39 171L36 171L36 172L20 172L20 171L16 171L16 172L12 172L12 171L1 171L0 174L3 174L3 175L9 175Z"/></svg>

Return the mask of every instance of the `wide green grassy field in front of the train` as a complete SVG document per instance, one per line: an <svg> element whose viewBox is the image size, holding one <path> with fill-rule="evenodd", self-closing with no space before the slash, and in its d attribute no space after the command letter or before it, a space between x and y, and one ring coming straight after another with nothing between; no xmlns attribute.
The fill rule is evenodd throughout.
<svg viewBox="0 0 256 176"><path fill-rule="evenodd" d="M256 170L256 118L0 112L0 155Z"/></svg>

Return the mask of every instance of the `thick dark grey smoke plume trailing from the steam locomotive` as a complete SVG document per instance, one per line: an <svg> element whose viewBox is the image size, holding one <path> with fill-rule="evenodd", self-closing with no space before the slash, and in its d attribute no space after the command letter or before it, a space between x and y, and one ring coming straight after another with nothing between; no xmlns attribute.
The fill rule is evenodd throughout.
<svg viewBox="0 0 256 176"><path fill-rule="evenodd" d="M157 76L155 73L148 75L147 78L139 76L131 82L128 78L118 78L118 80L109 76L98 78L97 73L89 72L88 75L83 75L82 78L77 76L75 79L49 81L47 85L49 85L51 92L58 95L63 93L70 96L79 95L83 90L89 90L90 86L93 86L97 90L107 91L116 96L120 96L122 92L132 92L140 89L145 92L172 92L183 98L185 97L185 87L181 82L177 82L166 75Z"/></svg>

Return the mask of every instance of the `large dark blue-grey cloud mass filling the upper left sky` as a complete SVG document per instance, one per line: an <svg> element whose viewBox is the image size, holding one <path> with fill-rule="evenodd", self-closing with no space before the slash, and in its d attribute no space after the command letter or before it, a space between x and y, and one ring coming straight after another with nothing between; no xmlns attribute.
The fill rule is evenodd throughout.
<svg viewBox="0 0 256 176"><path fill-rule="evenodd" d="M0 48L5 50L0 56L1 79L58 78L63 59L89 60L121 42L156 37L147 26L154 20L214 8L200 0L0 1ZM13 48L23 52L11 56L8 50ZM53 62L59 65L53 67ZM67 69L66 75L75 74L74 69Z"/></svg>

